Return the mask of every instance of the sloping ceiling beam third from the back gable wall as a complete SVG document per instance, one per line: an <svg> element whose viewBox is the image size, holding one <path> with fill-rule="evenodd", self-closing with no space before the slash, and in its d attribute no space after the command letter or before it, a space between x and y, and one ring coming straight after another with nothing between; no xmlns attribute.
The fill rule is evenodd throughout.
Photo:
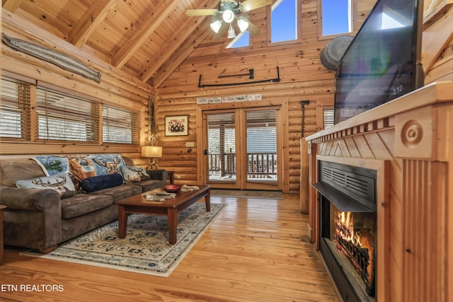
<svg viewBox="0 0 453 302"><path fill-rule="evenodd" d="M169 13L178 6L178 0L166 0L146 19L138 30L134 32L132 37L122 45L112 57L112 64L117 68L124 66L139 47L147 40L147 38L154 33L154 30L166 19Z"/></svg>

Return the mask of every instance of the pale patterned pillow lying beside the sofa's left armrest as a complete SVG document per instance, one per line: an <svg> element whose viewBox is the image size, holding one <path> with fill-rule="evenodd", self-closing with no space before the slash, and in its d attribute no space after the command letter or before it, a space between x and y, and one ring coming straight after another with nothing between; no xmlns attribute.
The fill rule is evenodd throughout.
<svg viewBox="0 0 453 302"><path fill-rule="evenodd" d="M18 180L16 187L24 189L52 189L58 192L59 197L69 197L75 194L76 188L67 173L57 173L54 175L35 178L33 180Z"/></svg>

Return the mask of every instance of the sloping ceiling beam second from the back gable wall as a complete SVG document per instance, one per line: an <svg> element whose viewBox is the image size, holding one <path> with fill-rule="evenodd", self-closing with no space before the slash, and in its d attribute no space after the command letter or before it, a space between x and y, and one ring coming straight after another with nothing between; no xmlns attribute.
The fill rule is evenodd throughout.
<svg viewBox="0 0 453 302"><path fill-rule="evenodd" d="M207 0L202 6L203 7L214 7L219 3L219 0ZM147 66L144 66L140 72L140 79L144 82L147 82L156 72L159 70L159 67L165 64L168 58L178 50L180 43L178 41L184 41L200 26L202 21L206 16L200 17L190 17L187 21L181 26L173 36L168 39L166 45L159 50L158 53L150 60Z"/></svg>

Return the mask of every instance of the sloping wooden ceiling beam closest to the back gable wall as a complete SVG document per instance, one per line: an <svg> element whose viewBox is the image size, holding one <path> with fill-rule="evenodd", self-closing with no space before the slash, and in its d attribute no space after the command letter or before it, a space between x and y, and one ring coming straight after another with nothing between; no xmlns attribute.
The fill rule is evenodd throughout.
<svg viewBox="0 0 453 302"><path fill-rule="evenodd" d="M162 83L171 75L173 71L175 71L178 66L184 62L184 60L189 57L189 55L200 45L203 40L208 35L212 35L211 30L205 30L209 27L210 20L205 19L204 22L197 28L196 32L193 33L193 38L188 38L180 45L180 48L177 52L173 52L172 56L168 61L160 66L159 71L157 71L156 75L152 80L152 86L155 88L159 88Z"/></svg>

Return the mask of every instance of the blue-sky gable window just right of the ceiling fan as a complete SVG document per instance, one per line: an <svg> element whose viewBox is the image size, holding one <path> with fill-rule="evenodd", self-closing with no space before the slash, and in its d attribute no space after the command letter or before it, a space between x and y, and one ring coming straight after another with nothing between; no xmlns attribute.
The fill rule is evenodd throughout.
<svg viewBox="0 0 453 302"><path fill-rule="evenodd" d="M271 6L270 42L297 40L297 0L278 0Z"/></svg>

